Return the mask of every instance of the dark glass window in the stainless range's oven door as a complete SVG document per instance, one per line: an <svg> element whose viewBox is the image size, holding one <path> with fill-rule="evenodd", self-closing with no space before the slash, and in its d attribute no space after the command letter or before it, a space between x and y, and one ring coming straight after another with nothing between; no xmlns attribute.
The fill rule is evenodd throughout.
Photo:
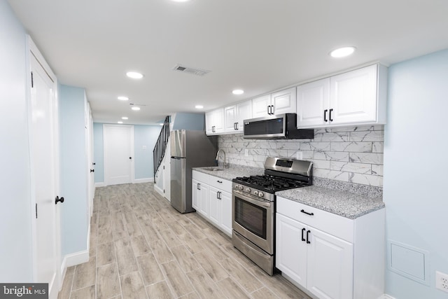
<svg viewBox="0 0 448 299"><path fill-rule="evenodd" d="M266 239L266 209L235 196L235 221L258 237Z"/></svg>

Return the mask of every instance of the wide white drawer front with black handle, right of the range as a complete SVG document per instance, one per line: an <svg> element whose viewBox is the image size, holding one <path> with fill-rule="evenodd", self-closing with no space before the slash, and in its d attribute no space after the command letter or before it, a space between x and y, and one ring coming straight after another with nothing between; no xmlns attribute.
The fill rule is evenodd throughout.
<svg viewBox="0 0 448 299"><path fill-rule="evenodd" d="M277 213L353 243L353 220L279 196L276 197L276 204Z"/></svg>

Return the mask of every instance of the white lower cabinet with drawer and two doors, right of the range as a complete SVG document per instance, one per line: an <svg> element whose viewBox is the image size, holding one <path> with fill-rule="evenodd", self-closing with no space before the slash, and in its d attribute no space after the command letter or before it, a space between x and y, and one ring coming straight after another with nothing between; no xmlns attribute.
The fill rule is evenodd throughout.
<svg viewBox="0 0 448 299"><path fill-rule="evenodd" d="M283 276L317 298L384 293L384 209L349 219L283 197L276 202L276 267Z"/></svg>

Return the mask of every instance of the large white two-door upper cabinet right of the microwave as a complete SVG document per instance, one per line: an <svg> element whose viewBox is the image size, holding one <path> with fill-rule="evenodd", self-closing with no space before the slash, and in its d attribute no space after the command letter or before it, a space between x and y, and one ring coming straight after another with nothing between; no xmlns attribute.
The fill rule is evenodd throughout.
<svg viewBox="0 0 448 299"><path fill-rule="evenodd" d="M363 67L297 87L297 127L386 123L387 69Z"/></svg>

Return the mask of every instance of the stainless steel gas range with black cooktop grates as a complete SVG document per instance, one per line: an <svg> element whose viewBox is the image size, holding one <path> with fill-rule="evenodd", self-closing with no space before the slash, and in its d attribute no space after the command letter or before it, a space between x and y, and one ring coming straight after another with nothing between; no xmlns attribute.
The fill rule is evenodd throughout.
<svg viewBox="0 0 448 299"><path fill-rule="evenodd" d="M312 185L312 162L268 157L265 175L232 180L232 243L274 274L276 191Z"/></svg>

